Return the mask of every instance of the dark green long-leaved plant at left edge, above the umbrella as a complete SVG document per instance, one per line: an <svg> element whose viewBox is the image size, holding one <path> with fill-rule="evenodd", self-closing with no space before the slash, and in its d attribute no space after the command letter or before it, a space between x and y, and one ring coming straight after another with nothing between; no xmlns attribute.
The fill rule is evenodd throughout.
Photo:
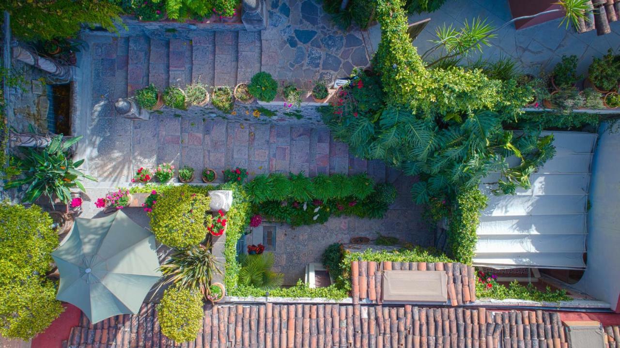
<svg viewBox="0 0 620 348"><path fill-rule="evenodd" d="M45 195L52 203L53 196L56 196L66 204L71 199L69 189L77 187L86 191L79 179L97 181L97 178L76 169L84 163L83 159L73 162L69 156L69 148L81 139L82 136L78 136L63 142L63 136L59 135L43 149L26 147L17 163L25 178L9 181L5 188L28 185L24 201L33 202Z"/></svg>

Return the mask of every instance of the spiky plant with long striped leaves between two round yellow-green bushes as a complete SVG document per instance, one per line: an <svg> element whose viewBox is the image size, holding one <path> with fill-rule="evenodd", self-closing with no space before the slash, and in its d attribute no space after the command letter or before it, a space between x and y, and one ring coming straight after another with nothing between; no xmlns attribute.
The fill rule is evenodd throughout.
<svg viewBox="0 0 620 348"><path fill-rule="evenodd" d="M166 277L160 286L172 283L184 289L200 290L206 298L211 294L213 276L223 274L210 249L211 243L207 242L205 245L194 245L175 251L159 266L159 271Z"/></svg>

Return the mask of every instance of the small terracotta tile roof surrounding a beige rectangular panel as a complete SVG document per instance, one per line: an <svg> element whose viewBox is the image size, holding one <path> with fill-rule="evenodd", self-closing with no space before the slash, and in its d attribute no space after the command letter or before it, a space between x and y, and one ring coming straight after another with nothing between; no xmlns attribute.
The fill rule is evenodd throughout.
<svg viewBox="0 0 620 348"><path fill-rule="evenodd" d="M353 304L381 303L381 271L445 271L448 276L448 304L463 305L476 301L476 276L473 267L462 263L425 263L353 261L351 263L351 297Z"/></svg>

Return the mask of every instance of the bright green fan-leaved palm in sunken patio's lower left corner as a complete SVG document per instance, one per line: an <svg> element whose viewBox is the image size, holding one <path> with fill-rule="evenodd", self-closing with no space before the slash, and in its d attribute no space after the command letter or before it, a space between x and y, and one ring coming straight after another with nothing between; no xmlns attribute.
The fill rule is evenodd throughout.
<svg viewBox="0 0 620 348"><path fill-rule="evenodd" d="M275 261L273 253L260 255L239 256L241 271L239 271L239 284L252 285L262 290L274 290L282 286L284 274L272 272L271 268Z"/></svg>

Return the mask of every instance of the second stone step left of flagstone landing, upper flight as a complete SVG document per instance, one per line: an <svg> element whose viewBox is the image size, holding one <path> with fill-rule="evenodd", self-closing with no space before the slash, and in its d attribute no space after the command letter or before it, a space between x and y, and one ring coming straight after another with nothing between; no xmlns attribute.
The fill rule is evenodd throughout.
<svg viewBox="0 0 620 348"><path fill-rule="evenodd" d="M239 32L215 32L215 80L216 86L234 87L237 82Z"/></svg>

